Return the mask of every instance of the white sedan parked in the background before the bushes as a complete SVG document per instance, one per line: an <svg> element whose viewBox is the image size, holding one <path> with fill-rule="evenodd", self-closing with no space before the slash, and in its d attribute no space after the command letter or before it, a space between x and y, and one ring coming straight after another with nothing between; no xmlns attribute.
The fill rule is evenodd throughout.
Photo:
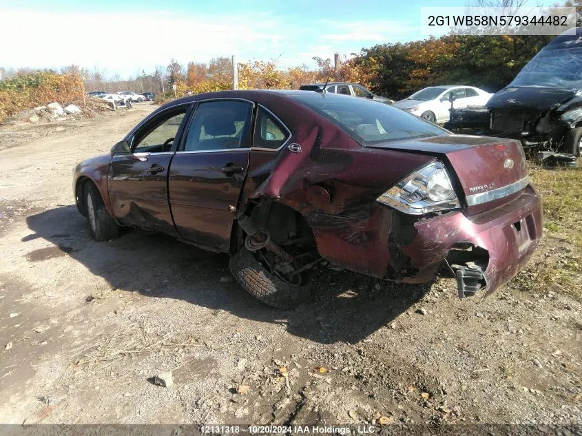
<svg viewBox="0 0 582 436"><path fill-rule="evenodd" d="M485 105L492 95L474 86L431 86L394 105L431 123L446 123L449 120L451 100L455 102L455 107L479 106Z"/></svg>

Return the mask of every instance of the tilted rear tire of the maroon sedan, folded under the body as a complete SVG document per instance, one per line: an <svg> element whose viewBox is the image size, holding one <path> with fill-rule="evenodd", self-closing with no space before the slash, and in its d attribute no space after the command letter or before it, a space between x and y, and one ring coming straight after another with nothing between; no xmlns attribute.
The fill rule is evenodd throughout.
<svg viewBox="0 0 582 436"><path fill-rule="evenodd" d="M229 261L235 280L260 302L276 309L292 309L311 297L309 279L306 284L294 286L269 273L245 248L236 252Z"/></svg>

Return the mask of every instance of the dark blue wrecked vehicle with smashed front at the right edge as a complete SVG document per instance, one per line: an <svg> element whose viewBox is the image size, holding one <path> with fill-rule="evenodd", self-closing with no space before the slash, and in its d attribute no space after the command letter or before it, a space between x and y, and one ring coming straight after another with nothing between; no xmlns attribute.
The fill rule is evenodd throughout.
<svg viewBox="0 0 582 436"><path fill-rule="evenodd" d="M516 138L524 149L580 156L582 145L582 28L546 45L486 110L451 110L448 128L481 127Z"/></svg>

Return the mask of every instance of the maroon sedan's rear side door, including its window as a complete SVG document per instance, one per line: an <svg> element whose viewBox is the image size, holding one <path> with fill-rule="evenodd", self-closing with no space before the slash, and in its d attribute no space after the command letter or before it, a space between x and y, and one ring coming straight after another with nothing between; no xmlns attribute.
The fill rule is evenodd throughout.
<svg viewBox="0 0 582 436"><path fill-rule="evenodd" d="M253 103L198 103L172 160L169 203L181 238L211 251L229 251L234 207L245 182Z"/></svg>

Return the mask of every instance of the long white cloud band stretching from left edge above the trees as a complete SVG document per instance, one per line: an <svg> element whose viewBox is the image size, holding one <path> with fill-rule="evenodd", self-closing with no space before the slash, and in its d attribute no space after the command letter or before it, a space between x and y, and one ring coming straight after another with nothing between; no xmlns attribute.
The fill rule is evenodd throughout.
<svg viewBox="0 0 582 436"><path fill-rule="evenodd" d="M349 54L364 46L401 41L416 29L394 20L297 22L269 12L208 15L174 12L75 13L0 10L5 67L60 68L75 63L112 76L132 76L170 58L208 62L278 59L282 66L313 65L313 56Z"/></svg>

